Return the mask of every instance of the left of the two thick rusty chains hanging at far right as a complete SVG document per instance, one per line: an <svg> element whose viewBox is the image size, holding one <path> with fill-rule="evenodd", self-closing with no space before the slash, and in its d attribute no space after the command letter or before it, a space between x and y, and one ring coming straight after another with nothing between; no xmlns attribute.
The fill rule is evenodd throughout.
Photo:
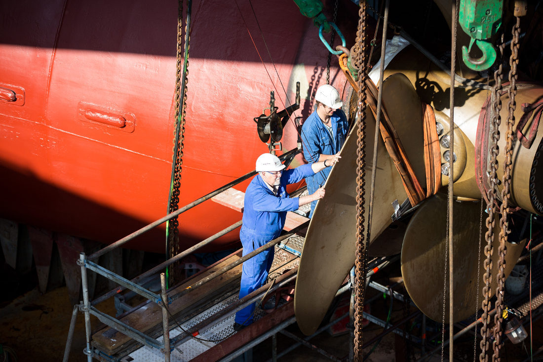
<svg viewBox="0 0 543 362"><path fill-rule="evenodd" d="M492 115L492 121L490 122L490 129L489 129L489 138L490 138L490 144L489 144L489 152L490 152L490 169L489 169L489 182L490 182L490 188L487 192L488 197L488 203L487 203L487 221L485 222L487 226L487 232L485 233L485 240L487 241L487 245L484 247L484 254L486 256L483 266L485 267L485 273L483 274L483 303L482 303L482 309L483 309L483 315L481 317L483 321L483 326L481 327L481 353L479 354L479 361L480 362L487 362L488 361L488 349L490 347L489 342L489 330L488 330L488 324L490 323L490 316L489 316L489 300L492 295L490 291L490 284L492 282L492 254L494 252L492 242L494 240L494 214L496 212L496 205L495 205L495 199L497 197L496 195L496 179L497 179L497 155L498 155L498 140L500 139L500 132L498 131L498 128L500 127L500 110L502 108L502 102L501 102L501 89L502 89L502 71L503 71L503 64L501 63L501 57L503 56L503 35L501 38L501 44L498 46L498 51L500 53L500 57L498 57L498 60L500 60L500 63L498 65L497 70L494 72L494 86L492 88L492 101L493 101L493 115Z"/></svg>

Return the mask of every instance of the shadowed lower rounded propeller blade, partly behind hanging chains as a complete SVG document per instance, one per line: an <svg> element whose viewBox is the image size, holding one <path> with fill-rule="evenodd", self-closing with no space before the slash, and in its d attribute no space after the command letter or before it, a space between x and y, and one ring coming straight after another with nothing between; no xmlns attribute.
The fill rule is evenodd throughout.
<svg viewBox="0 0 543 362"><path fill-rule="evenodd" d="M454 229L453 252L454 258L454 310L453 322L469 317L476 309L477 276L481 276L485 269L483 263L481 270L477 270L477 258L484 253L477 251L479 233L478 202L455 202L454 219L462 228ZM432 220L431 223L428 220ZM403 240L401 270L403 281L409 296L416 306L433 320L440 321L443 316L443 265L445 251L446 227L446 200L443 195L436 195L427 199L415 211ZM496 231L498 227L496 226ZM499 240L494 238L493 245L497 247ZM509 275L515 261L522 252L525 241L520 244L509 244L507 253L507 267L505 275ZM497 255L491 259L497 263ZM492 273L490 290L496 287L496 270ZM484 285L481 285L481 289ZM448 289L448 286L446 287ZM446 298L449 297L446 292ZM447 308L447 307L446 307ZM445 322L449 323L449 310L445 310Z"/></svg>

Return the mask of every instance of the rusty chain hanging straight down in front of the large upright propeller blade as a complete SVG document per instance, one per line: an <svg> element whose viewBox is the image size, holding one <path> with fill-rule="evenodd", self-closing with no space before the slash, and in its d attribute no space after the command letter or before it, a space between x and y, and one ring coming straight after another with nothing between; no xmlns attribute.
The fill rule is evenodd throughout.
<svg viewBox="0 0 543 362"><path fill-rule="evenodd" d="M365 194L365 130L366 130L366 26L367 4L360 2L358 29L354 47L355 66L358 68L358 130L356 160L356 260L355 260L355 341L354 359L362 361L362 322L364 292L366 285L367 240L364 240L364 194Z"/></svg>

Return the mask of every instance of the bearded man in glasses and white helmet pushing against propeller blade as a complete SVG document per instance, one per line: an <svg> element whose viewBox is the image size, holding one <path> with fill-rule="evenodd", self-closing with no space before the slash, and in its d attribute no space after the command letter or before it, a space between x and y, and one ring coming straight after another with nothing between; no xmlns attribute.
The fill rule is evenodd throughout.
<svg viewBox="0 0 543 362"><path fill-rule="evenodd" d="M243 225L239 239L243 245L243 255L267 244L279 237L287 211L297 210L314 200L324 197L324 188L302 197L289 197L286 186L299 182L302 178L333 166L339 157L302 165L292 170L285 170L281 160L270 153L264 153L256 160L258 174L251 180L243 205ZM271 247L243 263L239 299L266 284L268 272L273 261L274 248ZM252 323L255 303L236 313L234 330L238 331Z"/></svg>

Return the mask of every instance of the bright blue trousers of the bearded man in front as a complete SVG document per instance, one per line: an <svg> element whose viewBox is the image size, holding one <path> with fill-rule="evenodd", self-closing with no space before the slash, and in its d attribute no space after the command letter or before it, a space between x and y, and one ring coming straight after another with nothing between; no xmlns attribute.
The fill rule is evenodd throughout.
<svg viewBox="0 0 543 362"><path fill-rule="evenodd" d="M243 245L243 256L249 254L255 249L258 249L262 245L267 244L278 236L279 234L263 235L259 234L258 232L254 232L254 230L248 230L242 227L239 232L239 239ZM239 288L239 299L266 284L268 272L273 261L274 248L275 247L270 247L269 249L255 255L243 263L241 286ZM239 310L236 313L236 323L244 324L245 326L251 324L255 305L256 303L251 303L242 310Z"/></svg>

